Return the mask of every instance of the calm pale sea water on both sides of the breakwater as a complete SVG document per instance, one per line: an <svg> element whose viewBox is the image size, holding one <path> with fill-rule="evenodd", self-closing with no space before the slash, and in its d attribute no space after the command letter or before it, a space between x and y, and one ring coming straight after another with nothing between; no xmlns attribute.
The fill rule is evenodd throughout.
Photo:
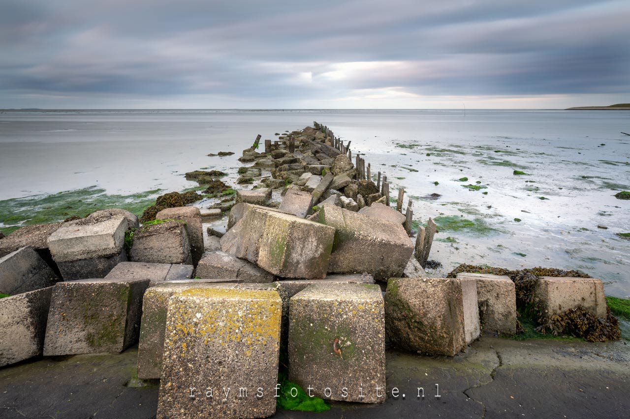
<svg viewBox="0 0 630 419"><path fill-rule="evenodd" d="M438 233L432 259L444 267L433 274L464 262L582 269L607 293L630 296L630 240L616 235L630 232L630 201L613 197L630 190L630 137L620 132L630 111L9 111L0 113L0 199L92 185L181 190L193 186L190 170L236 172L258 133L273 139L314 120L365 153L392 196L404 187L416 220L470 221ZM207 157L218 151L236 154Z"/></svg>

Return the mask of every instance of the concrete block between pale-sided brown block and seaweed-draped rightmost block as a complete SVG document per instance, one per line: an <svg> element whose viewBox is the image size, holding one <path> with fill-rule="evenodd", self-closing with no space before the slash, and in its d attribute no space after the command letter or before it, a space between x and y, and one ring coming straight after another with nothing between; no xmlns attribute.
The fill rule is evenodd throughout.
<svg viewBox="0 0 630 419"><path fill-rule="evenodd" d="M516 333L516 290L508 276L462 272L458 278L471 278L477 284L479 321L482 329L491 333Z"/></svg>

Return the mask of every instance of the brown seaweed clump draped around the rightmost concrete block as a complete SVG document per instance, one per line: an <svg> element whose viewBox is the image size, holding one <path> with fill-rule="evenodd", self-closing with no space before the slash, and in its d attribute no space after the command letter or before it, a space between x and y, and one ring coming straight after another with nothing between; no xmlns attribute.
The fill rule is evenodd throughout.
<svg viewBox="0 0 630 419"><path fill-rule="evenodd" d="M610 308L607 309L605 319L598 318L583 307L571 308L549 318L542 315L542 309L536 303L536 286L539 279L543 276L590 278L584 272L543 267L512 271L500 267L462 264L450 272L448 277L457 277L460 272L510 277L516 288L518 316L532 320L537 326L537 332L551 333L554 336L570 335L583 338L588 342L607 342L621 337L619 320L612 315ZM520 323L518 326L521 332L525 332Z"/></svg>

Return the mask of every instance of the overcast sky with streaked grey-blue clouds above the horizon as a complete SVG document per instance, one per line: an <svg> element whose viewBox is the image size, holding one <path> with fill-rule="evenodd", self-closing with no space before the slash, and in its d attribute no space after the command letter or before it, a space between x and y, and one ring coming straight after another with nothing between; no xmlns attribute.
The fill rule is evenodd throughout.
<svg viewBox="0 0 630 419"><path fill-rule="evenodd" d="M0 0L0 108L628 102L629 0Z"/></svg>

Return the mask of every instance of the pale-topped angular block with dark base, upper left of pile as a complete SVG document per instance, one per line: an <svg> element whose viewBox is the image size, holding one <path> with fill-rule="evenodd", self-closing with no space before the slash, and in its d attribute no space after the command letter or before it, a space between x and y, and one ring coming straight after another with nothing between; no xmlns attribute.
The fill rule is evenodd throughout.
<svg viewBox="0 0 630 419"><path fill-rule="evenodd" d="M102 278L127 260L123 245L128 228L124 216L102 213L60 226L48 244L64 280Z"/></svg>

